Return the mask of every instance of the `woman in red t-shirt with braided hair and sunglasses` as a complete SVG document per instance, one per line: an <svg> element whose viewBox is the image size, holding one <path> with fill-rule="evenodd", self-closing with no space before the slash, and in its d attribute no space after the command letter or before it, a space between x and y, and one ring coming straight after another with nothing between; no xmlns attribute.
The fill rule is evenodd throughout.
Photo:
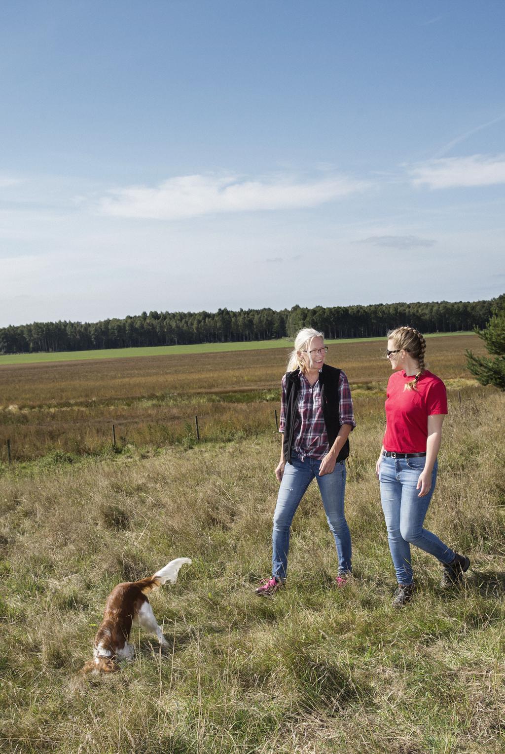
<svg viewBox="0 0 505 754"><path fill-rule="evenodd" d="M386 431L376 473L398 581L393 605L398 608L412 599L415 589L410 544L440 560L443 587L460 581L470 566L466 556L423 529L447 414L446 386L424 366L425 350L426 341L413 327L397 327L388 333L386 355L394 374L388 382Z"/></svg>

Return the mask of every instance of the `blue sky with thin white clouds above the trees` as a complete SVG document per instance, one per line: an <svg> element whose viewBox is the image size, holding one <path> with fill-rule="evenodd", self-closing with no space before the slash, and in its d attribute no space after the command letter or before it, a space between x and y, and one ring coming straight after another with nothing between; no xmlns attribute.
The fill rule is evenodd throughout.
<svg viewBox="0 0 505 754"><path fill-rule="evenodd" d="M0 5L0 326L505 290L505 3Z"/></svg>

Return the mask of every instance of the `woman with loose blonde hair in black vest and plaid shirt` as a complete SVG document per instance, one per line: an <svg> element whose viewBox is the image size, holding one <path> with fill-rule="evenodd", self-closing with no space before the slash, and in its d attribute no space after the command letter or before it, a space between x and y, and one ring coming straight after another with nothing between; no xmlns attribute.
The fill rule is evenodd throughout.
<svg viewBox="0 0 505 754"><path fill-rule="evenodd" d="M323 333L306 327L297 334L282 378L281 460L275 477L281 483L273 515L272 578L257 588L271 595L284 586L291 522L315 478L339 559L336 584L351 574L351 535L344 516L345 458L355 427L351 391L342 369L324 363Z"/></svg>

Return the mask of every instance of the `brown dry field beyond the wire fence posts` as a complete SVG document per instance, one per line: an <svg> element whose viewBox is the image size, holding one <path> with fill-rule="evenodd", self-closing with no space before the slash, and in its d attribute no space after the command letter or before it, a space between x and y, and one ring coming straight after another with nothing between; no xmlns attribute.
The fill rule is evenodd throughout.
<svg viewBox="0 0 505 754"><path fill-rule="evenodd" d="M360 394L381 400L389 375L385 342L330 345ZM483 353L475 335L428 339L428 362L450 387L469 382L465 348ZM279 385L288 350L176 354L0 366L0 461L56 453L103 453L117 446L164 447L231 440L275 431ZM357 401L357 411L360 402Z"/></svg>

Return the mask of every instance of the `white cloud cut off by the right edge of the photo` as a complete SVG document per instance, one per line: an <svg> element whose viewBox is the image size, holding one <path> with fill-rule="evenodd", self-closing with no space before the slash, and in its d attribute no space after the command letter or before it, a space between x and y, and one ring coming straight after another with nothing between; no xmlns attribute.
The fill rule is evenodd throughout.
<svg viewBox="0 0 505 754"><path fill-rule="evenodd" d="M471 155L430 160L411 168L412 183L430 189L505 183L505 155Z"/></svg>

